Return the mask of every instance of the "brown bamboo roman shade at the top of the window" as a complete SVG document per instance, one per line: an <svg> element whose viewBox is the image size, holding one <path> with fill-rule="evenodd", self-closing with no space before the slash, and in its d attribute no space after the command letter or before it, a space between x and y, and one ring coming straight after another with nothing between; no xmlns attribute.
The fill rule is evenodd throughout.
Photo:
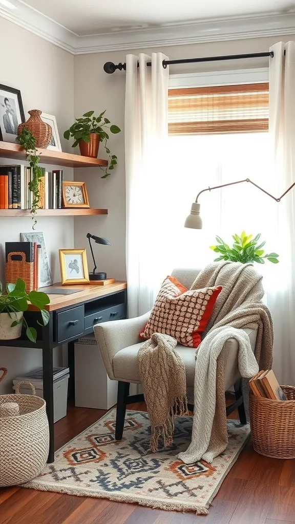
<svg viewBox="0 0 295 524"><path fill-rule="evenodd" d="M268 130L268 82L170 89L168 134Z"/></svg>

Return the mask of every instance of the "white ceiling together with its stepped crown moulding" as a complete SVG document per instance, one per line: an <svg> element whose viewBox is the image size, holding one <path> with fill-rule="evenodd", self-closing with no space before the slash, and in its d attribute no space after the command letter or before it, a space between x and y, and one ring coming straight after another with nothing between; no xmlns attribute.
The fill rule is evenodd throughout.
<svg viewBox="0 0 295 524"><path fill-rule="evenodd" d="M295 0L0 0L1 17L72 54L295 35Z"/></svg>

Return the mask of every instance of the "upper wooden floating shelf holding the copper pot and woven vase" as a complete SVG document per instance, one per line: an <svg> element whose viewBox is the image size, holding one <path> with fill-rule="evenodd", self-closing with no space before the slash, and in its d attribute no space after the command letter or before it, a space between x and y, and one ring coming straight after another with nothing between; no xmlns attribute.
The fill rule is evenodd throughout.
<svg viewBox="0 0 295 524"><path fill-rule="evenodd" d="M97 167L108 165L107 160L82 157L81 155L73 155L72 153L63 153L61 151L38 149L38 153L40 155L41 164L54 164L56 166L65 167ZM10 144L9 142L0 141L0 157L13 158L15 160L25 160L25 150L18 144Z"/></svg>

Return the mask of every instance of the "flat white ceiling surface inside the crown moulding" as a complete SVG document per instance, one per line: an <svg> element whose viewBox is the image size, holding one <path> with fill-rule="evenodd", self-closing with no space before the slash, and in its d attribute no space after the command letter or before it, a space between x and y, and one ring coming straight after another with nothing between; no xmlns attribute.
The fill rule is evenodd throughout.
<svg viewBox="0 0 295 524"><path fill-rule="evenodd" d="M25 0L23 3L78 36L295 12L295 0Z"/></svg>

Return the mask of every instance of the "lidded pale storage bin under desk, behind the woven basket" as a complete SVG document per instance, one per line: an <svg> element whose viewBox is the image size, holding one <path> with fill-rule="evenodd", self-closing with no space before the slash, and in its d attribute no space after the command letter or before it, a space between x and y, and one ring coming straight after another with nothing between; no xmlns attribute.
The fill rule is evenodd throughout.
<svg viewBox="0 0 295 524"><path fill-rule="evenodd" d="M33 378L26 379L29 380L36 388L36 396L40 398L43 397L43 382L40 380L34 380ZM17 379L14 380L14 384L17 383ZM54 380L53 383L53 396L54 396L54 422L66 417L67 415L67 400L68 400L68 383L69 383L69 374L64 375L57 380ZM14 388L15 389L15 386ZM19 388L20 395L31 395L31 388L28 384L22 384Z"/></svg>

